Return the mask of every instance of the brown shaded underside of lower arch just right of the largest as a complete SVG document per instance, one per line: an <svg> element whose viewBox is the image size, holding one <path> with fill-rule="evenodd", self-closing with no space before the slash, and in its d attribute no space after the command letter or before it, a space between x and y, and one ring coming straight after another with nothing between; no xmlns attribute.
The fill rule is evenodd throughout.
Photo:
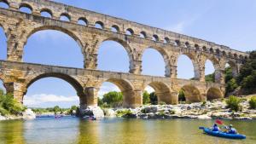
<svg viewBox="0 0 256 144"><path fill-rule="evenodd" d="M109 78L104 82L109 82L115 84L123 94L123 107L131 107L135 104L134 101L134 87L133 85L126 79L119 79L119 78ZM104 83L103 82L103 83Z"/></svg>

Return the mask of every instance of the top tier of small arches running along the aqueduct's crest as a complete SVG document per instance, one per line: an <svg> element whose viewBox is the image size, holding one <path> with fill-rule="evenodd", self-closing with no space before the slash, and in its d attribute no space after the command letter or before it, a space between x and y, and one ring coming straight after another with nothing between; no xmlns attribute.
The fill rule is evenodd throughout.
<svg viewBox="0 0 256 144"><path fill-rule="evenodd" d="M247 55L244 53L222 45L88 10L77 9L61 3L45 0L22 0L21 2L18 0L0 0L0 3L7 5L4 7L5 9L20 10L20 12L28 14L37 14L50 19L63 20L82 26L96 27L104 31L117 32L131 37L152 40L156 43L172 44L173 46L195 49L214 55L224 55L233 59L247 59Z"/></svg>

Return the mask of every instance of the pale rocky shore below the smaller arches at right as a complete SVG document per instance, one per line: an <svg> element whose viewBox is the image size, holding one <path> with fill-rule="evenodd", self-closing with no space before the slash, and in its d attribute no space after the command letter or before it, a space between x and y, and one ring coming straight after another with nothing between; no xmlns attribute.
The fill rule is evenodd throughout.
<svg viewBox="0 0 256 144"><path fill-rule="evenodd" d="M225 118L256 119L256 110L249 109L248 101L241 101L241 111L226 108L224 101L207 101L178 105L143 106L135 109L104 109L105 117L123 118Z"/></svg>

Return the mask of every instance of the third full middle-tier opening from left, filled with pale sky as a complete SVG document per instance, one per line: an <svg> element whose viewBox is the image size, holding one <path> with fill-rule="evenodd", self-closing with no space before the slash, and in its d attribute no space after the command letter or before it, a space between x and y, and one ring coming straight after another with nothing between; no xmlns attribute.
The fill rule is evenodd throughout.
<svg viewBox="0 0 256 144"><path fill-rule="evenodd" d="M154 48L148 48L143 51L143 72L144 75L151 76L166 76L167 60L164 59L165 55L162 55L159 50ZM154 64L154 65L152 65Z"/></svg>

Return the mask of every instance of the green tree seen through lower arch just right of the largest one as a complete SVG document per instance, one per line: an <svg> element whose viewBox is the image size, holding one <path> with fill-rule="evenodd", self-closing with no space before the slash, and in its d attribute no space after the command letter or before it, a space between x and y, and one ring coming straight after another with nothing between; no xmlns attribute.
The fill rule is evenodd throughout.
<svg viewBox="0 0 256 144"><path fill-rule="evenodd" d="M110 107L121 107L123 105L123 95L121 92L111 91L103 95L102 101Z"/></svg>

